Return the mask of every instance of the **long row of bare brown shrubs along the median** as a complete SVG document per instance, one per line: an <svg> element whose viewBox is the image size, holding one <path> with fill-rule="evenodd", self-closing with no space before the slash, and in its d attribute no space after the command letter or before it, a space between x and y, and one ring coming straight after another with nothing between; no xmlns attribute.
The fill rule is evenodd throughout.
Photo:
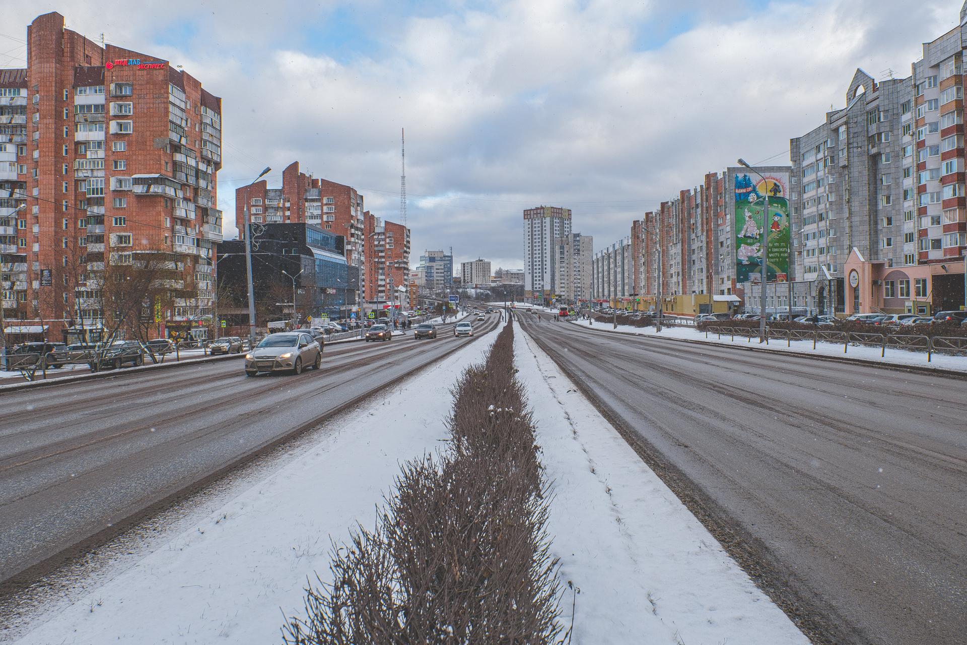
<svg viewBox="0 0 967 645"><path fill-rule="evenodd" d="M513 328L454 386L448 450L403 465L372 531L334 546L286 643L563 642L547 484Z"/></svg>

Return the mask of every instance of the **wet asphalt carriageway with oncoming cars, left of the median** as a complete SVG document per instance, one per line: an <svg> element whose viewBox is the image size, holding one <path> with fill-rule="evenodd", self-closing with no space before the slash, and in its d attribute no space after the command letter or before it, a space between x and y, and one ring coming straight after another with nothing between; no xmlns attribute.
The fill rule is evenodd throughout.
<svg viewBox="0 0 967 645"><path fill-rule="evenodd" d="M474 322L474 338L498 321ZM14 584L16 574L472 340L452 330L328 345L322 369L299 376L247 378L239 359L4 395L0 581Z"/></svg>

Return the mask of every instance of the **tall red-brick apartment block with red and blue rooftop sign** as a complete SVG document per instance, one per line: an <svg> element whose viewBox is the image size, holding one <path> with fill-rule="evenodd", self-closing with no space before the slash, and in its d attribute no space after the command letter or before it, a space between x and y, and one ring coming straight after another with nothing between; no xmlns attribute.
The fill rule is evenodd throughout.
<svg viewBox="0 0 967 645"><path fill-rule="evenodd" d="M131 333L134 321L111 319L115 301L104 307L105 274L155 263L168 272L151 335L205 336L220 115L220 98L165 60L102 47L57 13L28 26L27 68L0 73L2 309L9 331L21 321L14 340Z"/></svg>

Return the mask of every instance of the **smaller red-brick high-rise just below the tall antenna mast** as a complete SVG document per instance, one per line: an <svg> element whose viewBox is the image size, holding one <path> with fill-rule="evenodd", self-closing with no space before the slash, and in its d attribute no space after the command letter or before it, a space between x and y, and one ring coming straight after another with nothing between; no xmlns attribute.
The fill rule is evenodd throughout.
<svg viewBox="0 0 967 645"><path fill-rule="evenodd" d="M405 287L410 276L410 229L383 220L366 211L366 300L388 302L398 299L397 287Z"/></svg>

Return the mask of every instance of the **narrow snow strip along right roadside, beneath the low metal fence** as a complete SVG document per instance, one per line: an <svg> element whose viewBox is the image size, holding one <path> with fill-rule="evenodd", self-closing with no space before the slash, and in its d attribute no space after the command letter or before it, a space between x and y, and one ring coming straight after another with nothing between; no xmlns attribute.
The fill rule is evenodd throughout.
<svg viewBox="0 0 967 645"><path fill-rule="evenodd" d="M709 332L709 336L705 337L705 332L699 332L692 327L664 327L661 332L656 332L654 327L632 327L630 325L618 325L617 329L614 329L611 323L601 323L595 321L595 324L588 325L587 320L571 320L569 321L572 325L577 325L585 329L596 329L598 331L604 332L618 332L622 334L636 334L638 336L659 336L668 338L685 338L687 340L700 340L702 342L713 342L723 345L737 345L740 347L758 347L759 340L758 337L753 337L751 342L749 342L747 337L735 337L735 340L731 340L730 336L725 336L719 339L718 336L712 332ZM880 356L879 347L865 347L862 345L850 345L848 351L843 353L843 343L841 342L817 342L816 348L812 348L812 340L793 340L787 346L785 340L780 338L771 338L769 344L766 346L770 350L784 351L784 352L800 352L805 354L819 355L819 356L835 356L837 358L846 359L860 359L864 361L876 361L878 363L886 363L901 366L919 366L919 367L940 367L943 369L956 369L958 371L967 371L967 357L964 356L948 356L944 354L933 354L930 358L930 362L926 361L926 352L915 352L906 349L897 349L895 347L887 347L887 355L885 357Z"/></svg>

